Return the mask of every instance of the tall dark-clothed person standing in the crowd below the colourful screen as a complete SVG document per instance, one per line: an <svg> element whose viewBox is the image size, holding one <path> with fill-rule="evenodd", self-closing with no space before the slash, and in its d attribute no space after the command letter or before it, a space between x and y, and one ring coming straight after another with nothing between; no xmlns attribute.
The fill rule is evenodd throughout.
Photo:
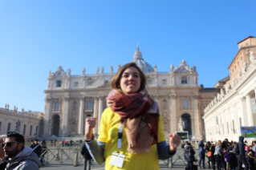
<svg viewBox="0 0 256 170"><path fill-rule="evenodd" d="M239 152L240 152L239 155L237 155L238 170L242 170L242 164L245 165L244 170L248 170L249 169L249 164L247 164L247 161L246 161L245 144L243 142L244 137L239 136L238 140L239 140L238 148L239 148Z"/></svg>

